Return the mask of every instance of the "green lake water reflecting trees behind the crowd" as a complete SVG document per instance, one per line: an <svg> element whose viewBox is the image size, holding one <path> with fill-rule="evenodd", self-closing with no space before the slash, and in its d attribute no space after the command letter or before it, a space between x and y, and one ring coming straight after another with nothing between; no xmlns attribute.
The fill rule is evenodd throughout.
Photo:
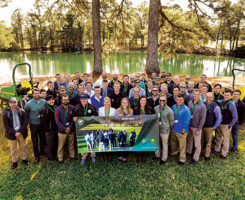
<svg viewBox="0 0 245 200"><path fill-rule="evenodd" d="M1 52L0 83L12 81L12 69L21 62L31 64L33 76L93 71L93 54ZM146 53L142 52L115 53L103 58L103 68L108 73L143 72L145 64ZM178 54L177 58L167 60L159 56L159 67L160 70L164 69L172 74L199 76L204 73L210 77L232 76L233 68L245 69L245 59ZM27 74L25 67L18 68L16 72L17 78L25 77ZM244 76L243 72L236 72L236 74Z"/></svg>

